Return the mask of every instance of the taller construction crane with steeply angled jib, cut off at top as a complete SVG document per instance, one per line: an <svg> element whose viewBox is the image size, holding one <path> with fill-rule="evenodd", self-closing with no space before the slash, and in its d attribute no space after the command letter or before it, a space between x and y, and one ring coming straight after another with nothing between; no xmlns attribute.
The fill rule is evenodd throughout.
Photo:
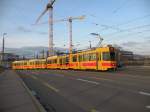
<svg viewBox="0 0 150 112"><path fill-rule="evenodd" d="M50 0L49 3L46 5L45 10L41 13L41 15L37 18L35 24L37 24L41 17L49 11L49 55L54 55L53 51L53 5L56 0Z"/></svg>

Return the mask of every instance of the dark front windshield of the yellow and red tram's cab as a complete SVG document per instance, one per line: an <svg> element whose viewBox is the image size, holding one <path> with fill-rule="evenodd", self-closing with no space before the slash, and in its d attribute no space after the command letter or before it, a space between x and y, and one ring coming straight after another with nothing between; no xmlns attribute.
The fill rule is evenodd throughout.
<svg viewBox="0 0 150 112"><path fill-rule="evenodd" d="M104 61L114 61L115 53L114 52L103 52L103 60Z"/></svg>

